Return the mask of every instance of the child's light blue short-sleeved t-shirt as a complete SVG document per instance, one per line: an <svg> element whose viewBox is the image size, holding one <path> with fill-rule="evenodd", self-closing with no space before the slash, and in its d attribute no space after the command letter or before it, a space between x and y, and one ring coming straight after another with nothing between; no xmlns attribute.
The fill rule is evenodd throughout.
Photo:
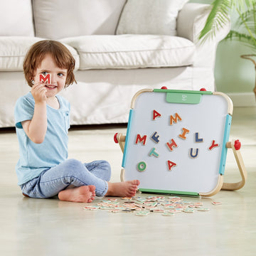
<svg viewBox="0 0 256 256"><path fill-rule="evenodd" d="M31 120L35 100L31 92L20 97L15 105L14 117L18 137L20 158L16 164L18 185L38 177L42 171L56 166L68 158L68 129L70 127L70 103L56 96L60 108L47 105L47 131L41 144L31 141L24 132L21 122Z"/></svg>

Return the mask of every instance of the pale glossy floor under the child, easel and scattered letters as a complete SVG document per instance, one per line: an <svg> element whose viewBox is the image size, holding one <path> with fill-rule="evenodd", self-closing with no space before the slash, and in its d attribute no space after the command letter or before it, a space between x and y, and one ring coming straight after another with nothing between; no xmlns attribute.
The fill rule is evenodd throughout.
<svg viewBox="0 0 256 256"><path fill-rule="evenodd" d="M113 142L115 132L125 134L126 127L70 129L70 158L106 159L112 165L112 181L119 181L122 152ZM203 202L208 212L171 217L152 213L142 218L134 213L83 210L85 203L24 198L14 170L16 134L2 129L0 255L256 255L256 108L235 108L230 139L242 142L248 173L244 188L220 191L213 198L189 198ZM239 178L229 151L225 182ZM213 206L212 201L223 204Z"/></svg>

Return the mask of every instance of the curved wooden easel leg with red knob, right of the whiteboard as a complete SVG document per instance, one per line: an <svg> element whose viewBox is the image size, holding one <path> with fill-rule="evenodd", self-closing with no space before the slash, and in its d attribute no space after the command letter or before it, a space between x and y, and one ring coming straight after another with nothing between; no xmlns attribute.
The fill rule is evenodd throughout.
<svg viewBox="0 0 256 256"><path fill-rule="evenodd" d="M240 171L240 175L242 178L242 181L239 181L237 183L223 183L223 186L221 189L228 190L228 191L235 191L243 186L245 186L245 181L247 180L247 171L245 169L245 164L242 161L242 155L240 153L240 142L239 140L233 140L232 142L227 142L226 147L233 149L233 153L235 156L235 161L238 164L238 169Z"/></svg>

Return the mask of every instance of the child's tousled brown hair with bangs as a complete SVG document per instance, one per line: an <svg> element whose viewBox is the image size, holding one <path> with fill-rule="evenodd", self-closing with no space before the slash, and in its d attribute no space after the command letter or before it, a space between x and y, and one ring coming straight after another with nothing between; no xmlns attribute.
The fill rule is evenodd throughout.
<svg viewBox="0 0 256 256"><path fill-rule="evenodd" d="M68 70L65 87L72 85L73 82L76 83L75 75L73 73L75 68L75 59L68 48L58 41L43 40L38 41L31 46L23 62L24 75L28 85L31 87L33 86L31 80L36 68L38 68L47 54L52 56L58 68L65 68Z"/></svg>

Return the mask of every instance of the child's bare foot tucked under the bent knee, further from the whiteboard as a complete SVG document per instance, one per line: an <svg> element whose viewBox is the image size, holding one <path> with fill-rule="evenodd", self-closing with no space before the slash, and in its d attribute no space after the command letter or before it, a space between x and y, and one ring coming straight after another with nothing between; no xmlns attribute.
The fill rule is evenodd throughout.
<svg viewBox="0 0 256 256"><path fill-rule="evenodd" d="M76 188L68 188L58 193L61 201L69 201L76 203L91 203L95 199L95 186L80 186Z"/></svg>

